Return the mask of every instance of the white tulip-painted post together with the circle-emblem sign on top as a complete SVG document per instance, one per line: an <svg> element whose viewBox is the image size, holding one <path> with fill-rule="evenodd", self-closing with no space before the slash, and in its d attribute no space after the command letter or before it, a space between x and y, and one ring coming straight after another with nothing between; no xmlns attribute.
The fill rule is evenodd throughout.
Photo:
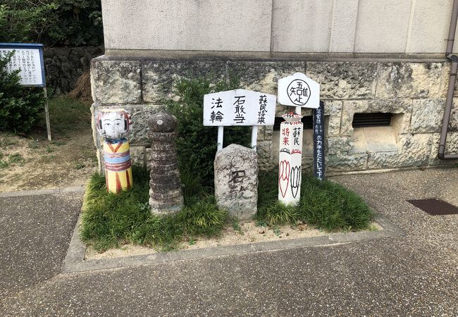
<svg viewBox="0 0 458 317"><path fill-rule="evenodd" d="M320 85L303 73L278 80L278 102L295 106L296 113L283 116L280 125L278 199L284 204L298 204L302 182L302 108L320 105ZM324 158L323 158L324 160Z"/></svg>

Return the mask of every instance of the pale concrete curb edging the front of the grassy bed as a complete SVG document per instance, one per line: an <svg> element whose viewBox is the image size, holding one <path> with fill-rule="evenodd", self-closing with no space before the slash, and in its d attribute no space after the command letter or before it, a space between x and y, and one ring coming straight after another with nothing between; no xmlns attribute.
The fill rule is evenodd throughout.
<svg viewBox="0 0 458 317"><path fill-rule="evenodd" d="M258 242L252 244L237 244L222 247L209 247L193 250L171 251L156 254L142 254L139 256L125 256L113 259L85 260L85 245L80 241L79 228L81 214L73 231L72 240L61 273L76 273L85 271L99 271L128 266L142 266L148 264L166 263L191 259L204 259L217 256L231 256L240 254L254 254L263 251L278 251L282 249L296 249L303 247L326 247L349 242L374 240L385 237L401 237L405 233L387 218L376 214L374 220L383 230L349 232L319 237L303 237L292 240Z"/></svg>

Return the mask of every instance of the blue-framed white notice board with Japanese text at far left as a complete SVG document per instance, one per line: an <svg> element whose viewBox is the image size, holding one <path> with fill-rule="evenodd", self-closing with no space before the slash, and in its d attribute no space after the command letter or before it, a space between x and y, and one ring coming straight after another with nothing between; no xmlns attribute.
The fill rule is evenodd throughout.
<svg viewBox="0 0 458 317"><path fill-rule="evenodd" d="M43 44L0 43L0 56L14 51L8 73L20 70L20 85L44 87Z"/></svg>

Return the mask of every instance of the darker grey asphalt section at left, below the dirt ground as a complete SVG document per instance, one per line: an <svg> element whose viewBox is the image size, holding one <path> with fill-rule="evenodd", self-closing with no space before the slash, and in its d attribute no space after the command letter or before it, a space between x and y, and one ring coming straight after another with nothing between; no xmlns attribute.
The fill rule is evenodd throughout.
<svg viewBox="0 0 458 317"><path fill-rule="evenodd" d="M81 199L81 189L2 193L0 297L59 273Z"/></svg>

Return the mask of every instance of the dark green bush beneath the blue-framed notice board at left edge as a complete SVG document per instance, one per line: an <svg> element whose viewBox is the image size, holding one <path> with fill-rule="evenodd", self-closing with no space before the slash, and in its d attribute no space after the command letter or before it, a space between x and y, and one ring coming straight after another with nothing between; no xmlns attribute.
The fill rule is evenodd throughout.
<svg viewBox="0 0 458 317"><path fill-rule="evenodd" d="M6 68L13 54L0 57L0 130L28 132L44 109L42 89L19 85L19 71Z"/></svg>

